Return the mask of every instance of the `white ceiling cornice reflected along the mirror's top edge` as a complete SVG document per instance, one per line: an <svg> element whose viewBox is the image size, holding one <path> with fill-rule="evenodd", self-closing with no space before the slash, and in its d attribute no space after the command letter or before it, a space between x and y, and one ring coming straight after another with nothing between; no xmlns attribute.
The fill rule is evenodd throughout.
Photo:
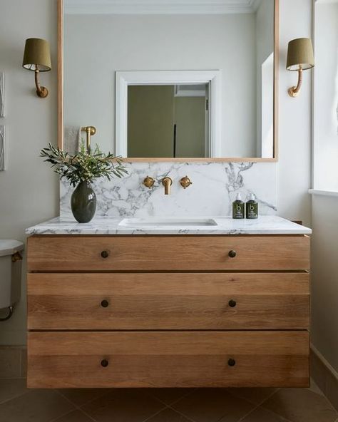
<svg viewBox="0 0 338 422"><path fill-rule="evenodd" d="M237 14L254 13L260 1L64 0L64 7L66 14Z"/></svg>

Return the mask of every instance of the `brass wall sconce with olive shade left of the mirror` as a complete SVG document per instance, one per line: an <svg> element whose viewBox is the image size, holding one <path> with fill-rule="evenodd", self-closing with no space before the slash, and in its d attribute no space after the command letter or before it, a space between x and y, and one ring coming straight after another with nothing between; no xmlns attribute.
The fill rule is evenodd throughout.
<svg viewBox="0 0 338 422"><path fill-rule="evenodd" d="M48 89L40 86L39 73L51 70L51 52L48 41L41 38L26 39L22 66L29 71L35 72L36 94L40 98L46 98Z"/></svg>

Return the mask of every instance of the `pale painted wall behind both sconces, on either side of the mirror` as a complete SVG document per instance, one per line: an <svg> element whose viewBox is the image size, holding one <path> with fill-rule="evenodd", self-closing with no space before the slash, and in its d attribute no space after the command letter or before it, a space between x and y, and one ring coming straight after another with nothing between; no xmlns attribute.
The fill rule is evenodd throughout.
<svg viewBox="0 0 338 422"><path fill-rule="evenodd" d="M0 64L6 73L8 116L4 123L9 143L9 170L0 173L0 232L3 238L24 240L25 227L57 214L56 177L38 158L39 150L48 141L55 143L57 135L56 0L1 0L0 12ZM310 34L311 1L280 1L280 18L279 214L309 224L310 73L304 75L299 98L289 98L287 87L295 83L295 74L285 71L285 56L287 41ZM54 69L42 75L51 89L44 100L32 93L33 75L21 69L24 39L29 36L51 41ZM13 319L0 323L0 343L24 344L25 314L23 296Z"/></svg>

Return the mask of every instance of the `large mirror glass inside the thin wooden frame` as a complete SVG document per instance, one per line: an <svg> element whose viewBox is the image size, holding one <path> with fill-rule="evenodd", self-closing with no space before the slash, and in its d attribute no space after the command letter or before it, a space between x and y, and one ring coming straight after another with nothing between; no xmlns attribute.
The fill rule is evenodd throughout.
<svg viewBox="0 0 338 422"><path fill-rule="evenodd" d="M94 126L92 145L128 158L274 158L275 3L63 0L63 148ZM119 93L131 71L155 77ZM217 86L158 83L184 71Z"/></svg>

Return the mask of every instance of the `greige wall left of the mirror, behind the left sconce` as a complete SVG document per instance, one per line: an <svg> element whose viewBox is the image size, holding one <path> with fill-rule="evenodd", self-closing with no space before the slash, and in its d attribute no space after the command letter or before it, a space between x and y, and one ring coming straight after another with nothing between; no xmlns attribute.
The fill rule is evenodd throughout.
<svg viewBox="0 0 338 422"><path fill-rule="evenodd" d="M39 158L41 148L57 140L56 1L1 0L0 62L6 81L8 165L0 173L0 237L25 242L26 227L58 212L58 180ZM53 71L41 74L47 98L35 93L34 72L21 67L26 38L51 42ZM0 323L1 344L26 341L26 276L14 316Z"/></svg>

